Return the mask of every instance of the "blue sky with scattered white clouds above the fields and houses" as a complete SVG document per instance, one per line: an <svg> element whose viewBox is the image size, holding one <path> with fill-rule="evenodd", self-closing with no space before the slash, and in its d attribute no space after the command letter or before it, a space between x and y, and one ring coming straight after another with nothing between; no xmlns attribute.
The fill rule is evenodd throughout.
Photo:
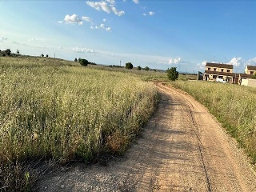
<svg viewBox="0 0 256 192"><path fill-rule="evenodd" d="M180 72L256 65L253 0L0 1L0 50Z"/></svg>

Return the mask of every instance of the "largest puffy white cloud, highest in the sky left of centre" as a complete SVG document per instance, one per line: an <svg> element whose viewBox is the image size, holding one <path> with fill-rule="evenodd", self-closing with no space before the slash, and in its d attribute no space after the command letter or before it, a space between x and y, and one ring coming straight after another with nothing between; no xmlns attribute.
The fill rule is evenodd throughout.
<svg viewBox="0 0 256 192"><path fill-rule="evenodd" d="M110 3L110 4L108 4ZM103 10L105 11L106 13L110 14L111 12L113 12L114 14L118 15L118 16L122 16L123 14L125 14L125 11L123 10L117 10L115 7L114 7L114 3L115 1L114 0L106 0L106 2L90 2L90 1L87 1L86 4L88 6L91 6L93 7L95 10Z"/></svg>

